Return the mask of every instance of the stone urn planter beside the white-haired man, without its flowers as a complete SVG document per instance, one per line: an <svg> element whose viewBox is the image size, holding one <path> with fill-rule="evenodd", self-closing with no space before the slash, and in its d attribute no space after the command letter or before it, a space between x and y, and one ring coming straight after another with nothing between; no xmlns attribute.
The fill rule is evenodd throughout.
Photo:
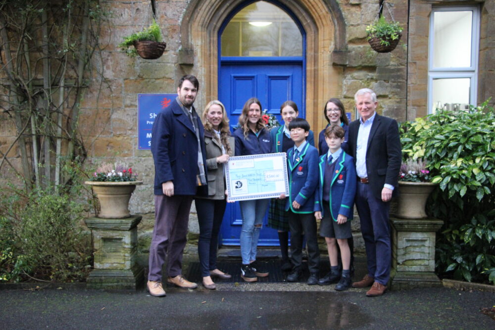
<svg viewBox="0 0 495 330"><path fill-rule="evenodd" d="M437 184L399 181L396 216L402 219L425 219L426 200Z"/></svg>

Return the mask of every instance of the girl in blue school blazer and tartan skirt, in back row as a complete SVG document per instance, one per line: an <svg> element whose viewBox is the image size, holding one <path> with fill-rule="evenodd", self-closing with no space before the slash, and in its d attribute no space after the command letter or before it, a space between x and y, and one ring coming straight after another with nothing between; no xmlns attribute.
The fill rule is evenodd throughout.
<svg viewBox="0 0 495 330"><path fill-rule="evenodd" d="M289 132L289 123L299 116L297 104L293 101L285 101L280 106L280 115L284 125L273 128L270 131L273 152L287 152L294 147L294 141ZM314 133L309 130L306 141L314 146ZM282 270L289 271L293 265L289 259L289 219L285 210L285 200L272 198L268 209L268 227L278 231L280 252L282 253Z"/></svg>

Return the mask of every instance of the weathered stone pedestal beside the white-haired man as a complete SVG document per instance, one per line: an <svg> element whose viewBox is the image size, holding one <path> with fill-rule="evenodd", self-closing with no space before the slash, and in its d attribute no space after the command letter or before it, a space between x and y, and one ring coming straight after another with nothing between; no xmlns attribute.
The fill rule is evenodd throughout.
<svg viewBox="0 0 495 330"><path fill-rule="evenodd" d="M444 222L438 219L398 219L392 223L394 289L442 286L435 274L435 236Z"/></svg>

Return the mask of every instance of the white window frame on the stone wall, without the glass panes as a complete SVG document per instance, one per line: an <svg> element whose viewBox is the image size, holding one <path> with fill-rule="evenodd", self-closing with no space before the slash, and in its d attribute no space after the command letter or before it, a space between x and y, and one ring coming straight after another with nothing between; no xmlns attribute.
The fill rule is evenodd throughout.
<svg viewBox="0 0 495 330"><path fill-rule="evenodd" d="M433 45L435 38L434 17L439 11L468 11L473 12L471 30L471 66L456 68L438 68L433 66ZM478 54L480 47L480 7L479 6L449 6L433 7L430 14L430 37L428 42L428 114L433 113L433 80L442 78L470 78L469 103L477 104L478 96Z"/></svg>

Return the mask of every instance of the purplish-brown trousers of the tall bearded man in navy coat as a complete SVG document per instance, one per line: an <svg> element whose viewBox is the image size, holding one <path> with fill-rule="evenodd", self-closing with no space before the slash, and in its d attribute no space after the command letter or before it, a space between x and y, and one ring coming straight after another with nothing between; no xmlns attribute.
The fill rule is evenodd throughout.
<svg viewBox="0 0 495 330"><path fill-rule="evenodd" d="M192 202L193 196L155 195L155 224L149 246L149 281L161 281L165 259L167 275L181 275Z"/></svg>

